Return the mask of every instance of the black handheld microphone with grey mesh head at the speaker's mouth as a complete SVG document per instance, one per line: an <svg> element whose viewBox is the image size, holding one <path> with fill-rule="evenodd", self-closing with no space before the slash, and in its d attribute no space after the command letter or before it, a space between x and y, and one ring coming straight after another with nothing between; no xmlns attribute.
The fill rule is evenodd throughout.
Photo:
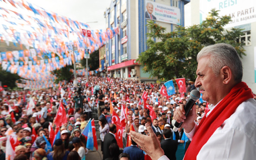
<svg viewBox="0 0 256 160"><path fill-rule="evenodd" d="M200 92L198 90L192 90L190 92L190 97L189 97L189 99L188 99L188 101L187 101L187 103L184 107L186 117L187 117L188 113L190 112L190 110L192 109L192 107L194 106L197 99L199 99L199 98L200 98ZM178 122L175 121L173 131L178 131L178 128L181 127L182 123L183 122L178 123Z"/></svg>

